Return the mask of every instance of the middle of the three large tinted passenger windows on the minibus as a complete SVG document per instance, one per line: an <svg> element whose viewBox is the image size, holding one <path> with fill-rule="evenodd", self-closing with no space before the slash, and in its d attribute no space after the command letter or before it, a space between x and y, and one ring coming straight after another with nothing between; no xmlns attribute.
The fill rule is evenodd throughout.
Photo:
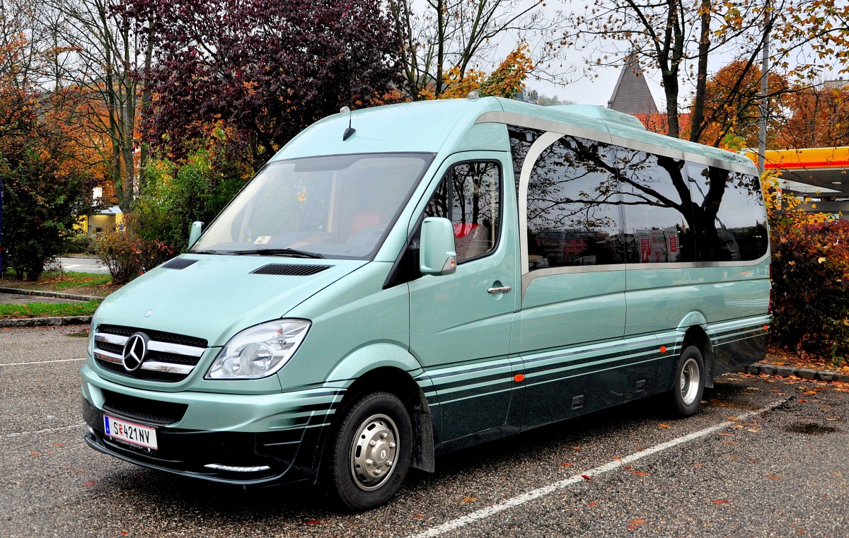
<svg viewBox="0 0 849 538"><path fill-rule="evenodd" d="M683 160L619 150L628 263L695 261L694 222Z"/></svg>

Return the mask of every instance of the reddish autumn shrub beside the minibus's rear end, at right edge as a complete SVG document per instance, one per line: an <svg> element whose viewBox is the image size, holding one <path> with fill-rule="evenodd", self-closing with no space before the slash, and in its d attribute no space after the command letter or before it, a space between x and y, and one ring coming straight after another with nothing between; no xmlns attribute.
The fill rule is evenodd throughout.
<svg viewBox="0 0 849 538"><path fill-rule="evenodd" d="M773 339L841 361L849 353L849 221L773 227Z"/></svg>

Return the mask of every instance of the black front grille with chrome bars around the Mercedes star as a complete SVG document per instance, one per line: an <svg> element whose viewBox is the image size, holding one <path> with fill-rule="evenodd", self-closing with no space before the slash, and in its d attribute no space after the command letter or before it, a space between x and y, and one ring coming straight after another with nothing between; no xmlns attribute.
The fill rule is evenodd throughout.
<svg viewBox="0 0 849 538"><path fill-rule="evenodd" d="M147 353L138 369L124 367L124 345L133 334L142 333ZM185 379L204 354L205 339L183 334L149 331L121 325L99 325L94 333L94 359L110 372L132 378L174 383Z"/></svg>

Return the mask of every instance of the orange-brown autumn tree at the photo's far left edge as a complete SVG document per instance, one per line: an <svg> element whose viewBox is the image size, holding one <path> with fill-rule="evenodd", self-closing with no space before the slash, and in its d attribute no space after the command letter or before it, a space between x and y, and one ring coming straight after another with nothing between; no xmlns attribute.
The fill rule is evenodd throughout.
<svg viewBox="0 0 849 538"><path fill-rule="evenodd" d="M3 11L3 15L8 11ZM77 216L91 209L93 170L74 159L66 136L62 92L45 94L35 69L51 50L39 48L20 20L0 20L0 188L3 266L36 280L58 255Z"/></svg>

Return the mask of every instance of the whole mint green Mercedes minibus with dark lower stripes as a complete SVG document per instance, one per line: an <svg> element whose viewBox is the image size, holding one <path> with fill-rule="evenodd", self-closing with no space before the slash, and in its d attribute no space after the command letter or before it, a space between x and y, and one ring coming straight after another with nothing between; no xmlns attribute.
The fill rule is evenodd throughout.
<svg viewBox="0 0 849 538"><path fill-rule="evenodd" d="M649 395L692 415L765 354L769 260L751 161L633 116L346 111L104 300L85 440L377 507L447 451Z"/></svg>

